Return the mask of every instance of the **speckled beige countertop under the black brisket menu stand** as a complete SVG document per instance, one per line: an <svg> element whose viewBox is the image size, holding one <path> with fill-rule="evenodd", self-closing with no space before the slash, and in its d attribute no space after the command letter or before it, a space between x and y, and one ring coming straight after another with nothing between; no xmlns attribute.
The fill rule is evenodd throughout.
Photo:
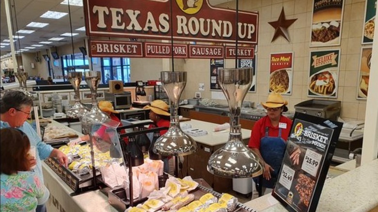
<svg viewBox="0 0 378 212"><path fill-rule="evenodd" d="M353 163L350 162L350 164ZM378 159L375 159L326 181L316 211L366 212L371 210L378 205L377 176ZM270 194L253 199L245 205L263 212L286 212L286 209Z"/></svg>

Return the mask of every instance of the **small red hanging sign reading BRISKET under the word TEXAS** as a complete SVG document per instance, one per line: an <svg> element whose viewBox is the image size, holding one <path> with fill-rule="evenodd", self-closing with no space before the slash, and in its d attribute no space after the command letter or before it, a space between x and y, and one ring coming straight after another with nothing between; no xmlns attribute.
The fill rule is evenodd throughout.
<svg viewBox="0 0 378 212"><path fill-rule="evenodd" d="M143 50L141 42L124 41L91 41L90 57L127 57L142 58Z"/></svg>

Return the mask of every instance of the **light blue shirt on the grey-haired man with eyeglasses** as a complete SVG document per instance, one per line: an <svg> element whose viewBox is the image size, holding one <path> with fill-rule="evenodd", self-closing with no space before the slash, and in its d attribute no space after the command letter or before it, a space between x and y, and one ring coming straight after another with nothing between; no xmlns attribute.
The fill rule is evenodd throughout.
<svg viewBox="0 0 378 212"><path fill-rule="evenodd" d="M0 122L0 129L7 127L10 127L8 122ZM36 147L35 159L37 161L37 167L35 167L34 171L37 174L37 176L41 179L41 181L44 182L41 160L45 160L46 158L48 158L53 148L50 145L42 142L42 139L38 136L37 132L35 132L35 130L31 127L31 125L28 122L25 121L22 126L16 127L16 129L21 130L29 137L30 146Z"/></svg>

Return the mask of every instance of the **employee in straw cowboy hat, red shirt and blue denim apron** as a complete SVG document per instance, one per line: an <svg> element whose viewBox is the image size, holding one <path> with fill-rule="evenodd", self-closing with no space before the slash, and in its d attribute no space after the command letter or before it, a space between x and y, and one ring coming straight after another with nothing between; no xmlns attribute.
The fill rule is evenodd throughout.
<svg viewBox="0 0 378 212"><path fill-rule="evenodd" d="M267 102L261 104L267 109L267 115L254 124L248 146L263 159L263 177L254 181L262 186L262 193L268 193L277 181L292 121L282 115L288 109L281 94L271 93Z"/></svg>

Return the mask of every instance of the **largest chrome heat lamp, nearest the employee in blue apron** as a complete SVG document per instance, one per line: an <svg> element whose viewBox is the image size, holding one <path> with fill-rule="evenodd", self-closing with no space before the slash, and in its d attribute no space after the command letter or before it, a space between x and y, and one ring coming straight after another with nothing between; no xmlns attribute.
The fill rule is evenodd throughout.
<svg viewBox="0 0 378 212"><path fill-rule="evenodd" d="M210 156L207 171L224 178L259 176L263 173L261 159L243 143L239 123L240 107L252 84L252 68L219 69L218 84L230 108L230 135Z"/></svg>

